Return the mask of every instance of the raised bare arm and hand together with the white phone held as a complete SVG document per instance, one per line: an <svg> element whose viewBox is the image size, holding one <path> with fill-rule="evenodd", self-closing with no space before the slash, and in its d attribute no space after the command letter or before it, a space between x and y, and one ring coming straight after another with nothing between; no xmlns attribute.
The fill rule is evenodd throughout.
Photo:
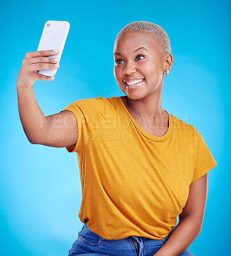
<svg viewBox="0 0 231 256"><path fill-rule="evenodd" d="M43 28L37 51L27 52L17 79L19 115L24 132L31 143L50 147L66 147L77 141L77 119L71 111L62 111L45 116L41 111L33 92L36 80L52 81L59 68L66 37L70 28L69 22L48 20ZM54 52L54 50L57 50ZM57 59L57 60L56 60ZM57 129L57 118L61 118L61 129ZM71 127L66 120L72 119ZM75 125L73 125L75 124ZM63 134L61 140L57 136ZM54 138L51 138L53 135ZM71 140L70 140L71 138Z"/></svg>

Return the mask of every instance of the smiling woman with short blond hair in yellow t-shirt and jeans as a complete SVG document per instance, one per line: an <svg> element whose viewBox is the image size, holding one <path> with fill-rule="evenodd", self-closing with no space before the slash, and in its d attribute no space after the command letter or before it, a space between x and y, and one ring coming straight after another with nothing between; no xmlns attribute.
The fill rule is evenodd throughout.
<svg viewBox="0 0 231 256"><path fill-rule="evenodd" d="M193 125L161 106L170 52L160 26L128 24L114 44L114 76L125 96L80 99L51 116L32 88L48 79L38 67L56 68L54 61L39 57L50 52L26 55L17 90L28 140L77 152L84 225L68 256L193 255L188 246L202 228L207 173L216 161Z"/></svg>

